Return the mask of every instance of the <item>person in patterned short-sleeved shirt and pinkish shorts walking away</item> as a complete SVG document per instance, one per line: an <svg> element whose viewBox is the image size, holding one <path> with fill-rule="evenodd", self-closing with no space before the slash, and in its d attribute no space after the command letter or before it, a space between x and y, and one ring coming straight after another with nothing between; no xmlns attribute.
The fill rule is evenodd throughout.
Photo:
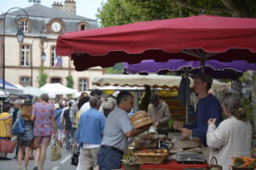
<svg viewBox="0 0 256 170"><path fill-rule="evenodd" d="M48 103L48 94L42 94L40 99L41 102L36 103L32 109L32 120L34 121L33 134L37 141L36 159L33 170L38 170L38 161L40 161L39 170L43 170L46 150L50 144L51 135L55 135L55 140L58 137L55 122L55 108Z"/></svg>

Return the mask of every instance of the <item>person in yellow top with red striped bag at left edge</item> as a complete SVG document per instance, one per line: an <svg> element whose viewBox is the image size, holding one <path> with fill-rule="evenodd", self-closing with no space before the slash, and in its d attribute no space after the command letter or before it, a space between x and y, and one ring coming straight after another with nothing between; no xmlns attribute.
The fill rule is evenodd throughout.
<svg viewBox="0 0 256 170"><path fill-rule="evenodd" d="M9 117L10 105L3 105L3 112L0 114L0 118ZM4 121L0 121L0 159L10 160L7 154L11 150L15 150L15 144L11 141L11 128L12 118L8 118ZM2 147L3 146L3 147ZM7 150L10 149L10 150Z"/></svg>

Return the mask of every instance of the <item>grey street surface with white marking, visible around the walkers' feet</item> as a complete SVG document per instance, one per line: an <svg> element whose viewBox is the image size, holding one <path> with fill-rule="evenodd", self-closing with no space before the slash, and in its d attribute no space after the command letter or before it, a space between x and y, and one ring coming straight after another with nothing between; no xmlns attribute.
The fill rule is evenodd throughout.
<svg viewBox="0 0 256 170"><path fill-rule="evenodd" d="M65 142L64 142L65 143ZM44 162L44 170L74 170L76 167L71 165L71 152L67 153L66 145L63 144L61 149L61 159L58 161L49 161L50 155L50 147L47 150L47 156ZM10 161L2 161L0 160L0 170L15 170L17 169L18 160L13 159L14 154L9 154L8 157L12 158ZM24 161L22 161L22 165L24 169ZM34 160L30 160L28 162L28 170L32 170L34 166Z"/></svg>

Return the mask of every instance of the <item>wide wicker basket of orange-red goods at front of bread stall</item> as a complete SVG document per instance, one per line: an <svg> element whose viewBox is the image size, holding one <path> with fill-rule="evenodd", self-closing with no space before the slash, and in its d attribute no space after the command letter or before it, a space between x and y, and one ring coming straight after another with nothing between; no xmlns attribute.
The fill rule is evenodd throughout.
<svg viewBox="0 0 256 170"><path fill-rule="evenodd" d="M165 150L165 153L162 154L132 153L132 155L136 157L137 163L161 164L166 161L168 152Z"/></svg>

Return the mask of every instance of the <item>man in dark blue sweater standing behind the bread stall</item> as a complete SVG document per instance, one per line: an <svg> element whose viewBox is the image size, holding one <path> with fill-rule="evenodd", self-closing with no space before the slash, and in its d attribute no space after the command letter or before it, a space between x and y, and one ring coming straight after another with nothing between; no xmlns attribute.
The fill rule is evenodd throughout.
<svg viewBox="0 0 256 170"><path fill-rule="evenodd" d="M202 143L207 146L207 128L208 120L216 118L216 125L222 122L222 110L218 99L212 94L208 94L209 89L212 87L212 77L207 74L200 73L194 77L194 90L198 95L199 101L196 107L195 122L191 124L184 124L174 122L174 129L182 131L183 136L193 136L201 139ZM205 155L205 154L204 154ZM206 153L207 157L207 153Z"/></svg>

